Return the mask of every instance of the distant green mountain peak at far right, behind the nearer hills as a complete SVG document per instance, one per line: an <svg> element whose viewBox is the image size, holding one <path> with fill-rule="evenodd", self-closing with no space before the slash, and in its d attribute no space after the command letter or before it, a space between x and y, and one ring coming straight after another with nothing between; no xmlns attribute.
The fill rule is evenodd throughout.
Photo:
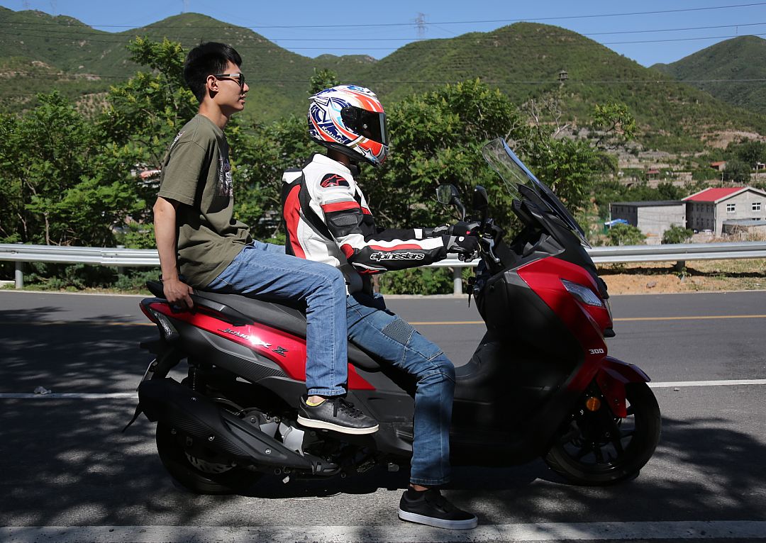
<svg viewBox="0 0 766 543"><path fill-rule="evenodd" d="M735 106L756 113L766 112L766 40L763 38L732 38L680 61L655 64L652 68Z"/></svg>

